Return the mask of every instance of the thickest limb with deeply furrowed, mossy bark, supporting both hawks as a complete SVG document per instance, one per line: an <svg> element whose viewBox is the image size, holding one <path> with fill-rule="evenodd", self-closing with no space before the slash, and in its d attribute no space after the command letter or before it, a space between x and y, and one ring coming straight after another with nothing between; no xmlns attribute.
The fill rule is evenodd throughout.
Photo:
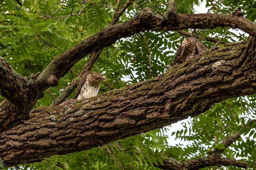
<svg viewBox="0 0 256 170"><path fill-rule="evenodd" d="M227 44L156 78L40 107L0 136L7 166L101 146L194 117L222 100L256 92L256 40Z"/></svg>

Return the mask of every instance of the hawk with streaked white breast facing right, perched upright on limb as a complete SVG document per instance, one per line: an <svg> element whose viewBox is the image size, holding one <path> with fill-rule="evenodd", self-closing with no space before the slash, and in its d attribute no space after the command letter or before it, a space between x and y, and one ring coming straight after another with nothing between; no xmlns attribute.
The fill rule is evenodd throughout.
<svg viewBox="0 0 256 170"><path fill-rule="evenodd" d="M97 96L100 89L100 82L103 79L106 79L106 77L101 73L86 72L77 86L75 99L80 100Z"/></svg>

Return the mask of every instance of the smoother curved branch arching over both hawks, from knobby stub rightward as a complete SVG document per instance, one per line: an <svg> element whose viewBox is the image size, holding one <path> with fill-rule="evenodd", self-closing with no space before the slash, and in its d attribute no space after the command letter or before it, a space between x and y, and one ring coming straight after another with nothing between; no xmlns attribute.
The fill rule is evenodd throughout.
<svg viewBox="0 0 256 170"><path fill-rule="evenodd" d="M110 46L116 40L145 30L182 30L187 28L238 28L256 37L256 24L243 17L226 14L177 14L174 19L165 19L152 9L145 8L139 15L126 22L110 26L99 33L90 36L81 43L62 53L42 71L37 83L45 90L56 86L56 82L77 61L85 55ZM49 82L49 76L55 80Z"/></svg>

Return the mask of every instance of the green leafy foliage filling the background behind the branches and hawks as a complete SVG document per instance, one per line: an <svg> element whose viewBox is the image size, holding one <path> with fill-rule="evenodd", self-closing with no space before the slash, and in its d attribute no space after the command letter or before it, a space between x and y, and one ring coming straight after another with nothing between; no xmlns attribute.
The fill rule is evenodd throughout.
<svg viewBox="0 0 256 170"><path fill-rule="evenodd" d="M73 2L73 3L72 3ZM121 0L121 7L125 3ZM118 23L126 21L144 7L153 8L158 13L166 11L167 1L134 0ZM178 13L194 13L194 6L200 0L177 0ZM54 57L109 26L116 6L116 0L88 1L80 16L45 18L38 14L32 0L22 1L19 6L15 0L2 0L0 4L0 56L23 76L41 72ZM244 16L255 21L256 2L241 0L212 0L206 2L210 13L223 11L229 14L234 8L242 7ZM54 0L40 1L35 4L43 15L60 17L78 14L82 7L80 1ZM101 4L101 5L97 5ZM113 6L113 7L111 7ZM228 30L227 30L228 29ZM191 32L193 30L184 30ZM225 42L236 42L246 35L229 28L196 29L194 35L214 37ZM224 35L225 34L225 35ZM223 36L224 35L224 36ZM110 47L104 48L92 71L102 72L107 80L101 84L101 91L124 87L127 84L147 80L164 72L166 65L173 61L177 47L185 36L176 31L145 31L122 38ZM210 49L215 43L202 40ZM60 78L57 87L44 92L34 107L50 105L63 89L73 80L87 62L88 56L77 62L72 70ZM120 77L120 80L119 80ZM118 81L116 81L118 80ZM107 88L112 82L113 85ZM74 97L73 94L70 98ZM3 98L0 96L0 102ZM229 158L242 158L247 165L255 163L255 95L228 99L215 104L207 112L182 123L182 129L170 132L170 127L156 129L137 136L111 142L106 146L67 155L55 155L40 163L18 166L20 169L158 169L168 157L180 161L207 156L214 149L225 149L222 155ZM221 143L229 135L239 131L239 138L225 148ZM186 142L170 146L168 136ZM0 168L3 167L0 159ZM212 167L217 169L217 167ZM229 166L227 169L236 167ZM256 168L252 166L250 168ZM11 168L12 169L12 168ZM13 168L14 169L14 168ZM203 168L203 169L209 169Z"/></svg>

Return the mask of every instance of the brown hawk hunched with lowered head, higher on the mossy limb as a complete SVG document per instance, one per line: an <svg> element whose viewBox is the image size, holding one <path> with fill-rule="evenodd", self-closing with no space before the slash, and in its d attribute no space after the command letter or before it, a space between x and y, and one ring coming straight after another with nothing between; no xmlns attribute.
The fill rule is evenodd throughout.
<svg viewBox="0 0 256 170"><path fill-rule="evenodd" d="M208 49L201 43L197 38L189 37L181 42L181 45L177 49L176 56L172 64L165 68L169 70L175 64L181 64L188 61L190 58L195 57L195 55L200 54Z"/></svg>

